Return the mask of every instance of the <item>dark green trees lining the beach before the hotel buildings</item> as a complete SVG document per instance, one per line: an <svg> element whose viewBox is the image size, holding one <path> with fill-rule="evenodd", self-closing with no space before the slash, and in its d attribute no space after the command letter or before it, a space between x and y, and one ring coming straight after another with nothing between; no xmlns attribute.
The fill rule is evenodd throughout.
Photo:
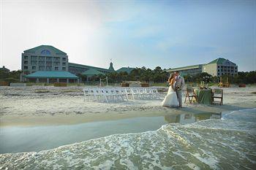
<svg viewBox="0 0 256 170"><path fill-rule="evenodd" d="M0 82L19 82L21 71L4 72L0 70ZM86 76L78 74L83 82L86 81ZM147 69L146 67L136 68L129 74L127 72L111 72L106 75L94 75L91 77L92 82L98 82L100 78L108 77L108 82L119 83L123 81L140 81L140 82L167 82L170 73L165 69L157 66L155 69ZM238 72L235 77L222 76L222 82L228 82L233 84L255 84L256 83L256 71L252 72ZM185 75L184 80L186 82L214 82L218 83L220 78L213 77L210 74L203 72L197 75Z"/></svg>

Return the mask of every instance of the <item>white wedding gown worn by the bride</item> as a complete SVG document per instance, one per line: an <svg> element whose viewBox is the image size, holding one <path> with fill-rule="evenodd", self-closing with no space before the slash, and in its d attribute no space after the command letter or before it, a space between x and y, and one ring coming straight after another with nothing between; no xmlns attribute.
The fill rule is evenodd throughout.
<svg viewBox="0 0 256 170"><path fill-rule="evenodd" d="M176 82L173 83L173 88L175 87ZM176 91L173 90L170 86L167 95L165 96L164 101L162 101L163 107L178 107L178 98Z"/></svg>

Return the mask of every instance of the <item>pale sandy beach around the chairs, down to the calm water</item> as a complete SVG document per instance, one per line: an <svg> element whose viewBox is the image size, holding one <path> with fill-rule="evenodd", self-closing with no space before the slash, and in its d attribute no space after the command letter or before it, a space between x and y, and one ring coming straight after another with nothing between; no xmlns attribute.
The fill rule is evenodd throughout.
<svg viewBox="0 0 256 170"><path fill-rule="evenodd" d="M159 87L159 91L161 98L164 98L167 88ZM255 108L255 92L255 86L224 88L223 106L184 104L184 108L175 109L161 107L162 100L135 100L115 104L83 101L82 87L1 87L0 126L65 125L130 117L227 112Z"/></svg>

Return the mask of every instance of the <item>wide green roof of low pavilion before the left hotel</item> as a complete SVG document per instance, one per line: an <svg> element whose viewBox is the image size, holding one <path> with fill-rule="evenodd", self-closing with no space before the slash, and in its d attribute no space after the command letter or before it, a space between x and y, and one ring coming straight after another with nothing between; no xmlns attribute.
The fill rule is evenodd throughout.
<svg viewBox="0 0 256 170"><path fill-rule="evenodd" d="M72 78L77 79L75 74L70 72L59 72L59 71L37 71L26 75L27 78Z"/></svg>

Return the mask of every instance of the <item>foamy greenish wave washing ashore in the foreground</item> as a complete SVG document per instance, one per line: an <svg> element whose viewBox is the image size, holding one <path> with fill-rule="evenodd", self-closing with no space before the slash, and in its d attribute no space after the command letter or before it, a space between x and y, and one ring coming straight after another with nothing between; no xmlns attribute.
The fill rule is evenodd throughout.
<svg viewBox="0 0 256 170"><path fill-rule="evenodd" d="M53 150L2 154L0 169L254 169L255 110Z"/></svg>

